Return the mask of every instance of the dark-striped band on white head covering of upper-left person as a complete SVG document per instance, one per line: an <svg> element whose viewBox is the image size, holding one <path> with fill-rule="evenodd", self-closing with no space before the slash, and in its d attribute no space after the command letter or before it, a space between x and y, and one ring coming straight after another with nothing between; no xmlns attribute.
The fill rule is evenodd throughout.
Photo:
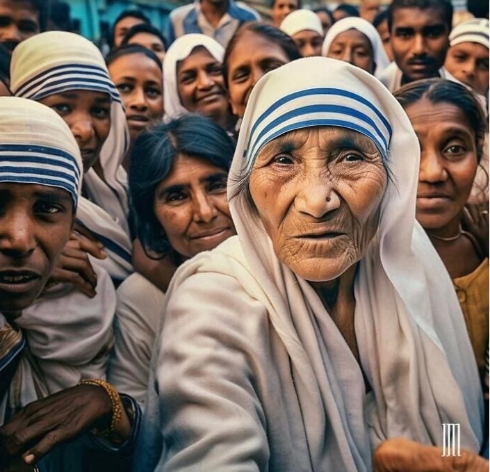
<svg viewBox="0 0 490 472"><path fill-rule="evenodd" d="M75 63L43 70L24 83L19 83L13 93L17 97L40 100L49 95L76 89L104 92L111 96L111 101L121 101L106 70L97 65Z"/></svg>

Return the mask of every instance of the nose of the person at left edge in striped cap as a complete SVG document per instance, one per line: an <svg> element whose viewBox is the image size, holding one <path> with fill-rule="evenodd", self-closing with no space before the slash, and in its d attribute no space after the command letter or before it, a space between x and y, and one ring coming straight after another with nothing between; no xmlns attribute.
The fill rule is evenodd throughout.
<svg viewBox="0 0 490 472"><path fill-rule="evenodd" d="M7 211L0 220L0 252L7 257L22 259L35 250L32 220L24 209Z"/></svg>

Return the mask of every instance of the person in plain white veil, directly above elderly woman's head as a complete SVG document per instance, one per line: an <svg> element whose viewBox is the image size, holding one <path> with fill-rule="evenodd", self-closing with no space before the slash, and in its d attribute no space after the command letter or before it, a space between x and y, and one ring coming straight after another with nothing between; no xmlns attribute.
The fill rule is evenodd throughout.
<svg viewBox="0 0 490 472"><path fill-rule="evenodd" d="M354 31L354 35L357 35L357 37L342 38L341 35L346 36L346 34L352 34L350 31ZM334 23L329 31L327 31L327 35L323 41L322 56L341 59L351 64L359 65L356 63L356 51L354 49L357 43L359 44L357 46L358 48L363 47L362 42L364 38L362 36L359 37L359 33L368 40L368 44L370 44L370 56L372 58L369 69L367 67L363 68L377 77L389 66L390 60L386 56L386 51L384 50L383 42L377 29L370 22L366 21L366 19L347 17ZM352 40L357 41L357 43L352 44Z"/></svg>

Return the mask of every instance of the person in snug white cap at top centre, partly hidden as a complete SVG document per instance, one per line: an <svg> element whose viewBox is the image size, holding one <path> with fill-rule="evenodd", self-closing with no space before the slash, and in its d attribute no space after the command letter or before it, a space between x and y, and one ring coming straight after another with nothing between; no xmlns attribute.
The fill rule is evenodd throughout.
<svg viewBox="0 0 490 472"><path fill-rule="evenodd" d="M303 57L321 55L323 26L316 13L295 10L282 20L279 29L293 38Z"/></svg>

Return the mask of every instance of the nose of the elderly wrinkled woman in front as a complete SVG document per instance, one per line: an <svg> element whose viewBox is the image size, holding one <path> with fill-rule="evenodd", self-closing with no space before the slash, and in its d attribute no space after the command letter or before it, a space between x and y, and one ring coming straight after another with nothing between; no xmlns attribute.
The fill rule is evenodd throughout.
<svg viewBox="0 0 490 472"><path fill-rule="evenodd" d="M314 181L304 181L294 204L300 213L319 219L338 209L341 199L332 184L326 181L325 177L318 176Z"/></svg>

